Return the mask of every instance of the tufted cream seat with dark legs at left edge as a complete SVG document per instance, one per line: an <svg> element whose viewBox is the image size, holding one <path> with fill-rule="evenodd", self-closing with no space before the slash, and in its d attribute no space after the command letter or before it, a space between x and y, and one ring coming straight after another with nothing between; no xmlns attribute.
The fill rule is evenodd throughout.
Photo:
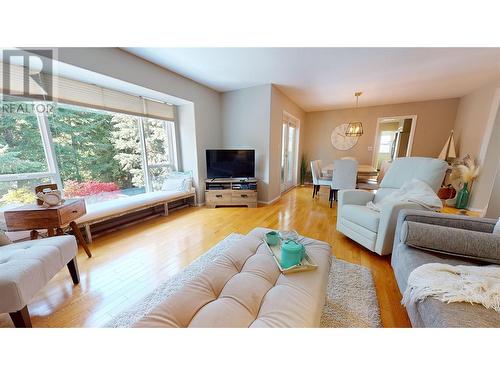
<svg viewBox="0 0 500 375"><path fill-rule="evenodd" d="M0 312L15 312L77 254L73 236L57 236L0 247Z"/></svg>

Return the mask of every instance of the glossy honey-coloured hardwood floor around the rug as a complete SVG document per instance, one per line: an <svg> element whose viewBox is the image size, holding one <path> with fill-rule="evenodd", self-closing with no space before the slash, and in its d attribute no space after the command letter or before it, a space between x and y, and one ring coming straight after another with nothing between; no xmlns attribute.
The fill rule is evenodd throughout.
<svg viewBox="0 0 500 375"><path fill-rule="evenodd" d="M336 208L330 209L326 189L319 199L311 196L312 187L299 187L259 208L191 207L97 238L89 246L92 258L80 248L78 286L64 268L29 304L33 326L102 326L230 233L264 226L329 242L337 258L371 269L384 327L409 327L390 256L380 257L335 230ZM0 314L0 327L12 327L8 314Z"/></svg>

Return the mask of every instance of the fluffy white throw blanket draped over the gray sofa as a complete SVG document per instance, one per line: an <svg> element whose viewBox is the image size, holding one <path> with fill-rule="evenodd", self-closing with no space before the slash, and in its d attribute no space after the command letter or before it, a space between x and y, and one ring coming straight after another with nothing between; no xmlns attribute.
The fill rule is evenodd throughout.
<svg viewBox="0 0 500 375"><path fill-rule="evenodd" d="M402 303L407 306L426 297L447 303L478 303L500 312L500 267L424 264L408 277Z"/></svg>

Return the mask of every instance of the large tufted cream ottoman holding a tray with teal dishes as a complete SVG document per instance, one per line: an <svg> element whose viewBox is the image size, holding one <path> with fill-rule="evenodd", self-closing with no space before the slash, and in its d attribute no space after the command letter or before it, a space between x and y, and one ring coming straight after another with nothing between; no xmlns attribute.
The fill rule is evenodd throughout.
<svg viewBox="0 0 500 375"><path fill-rule="evenodd" d="M331 247L302 238L318 269L282 275L252 230L135 327L318 327Z"/></svg>

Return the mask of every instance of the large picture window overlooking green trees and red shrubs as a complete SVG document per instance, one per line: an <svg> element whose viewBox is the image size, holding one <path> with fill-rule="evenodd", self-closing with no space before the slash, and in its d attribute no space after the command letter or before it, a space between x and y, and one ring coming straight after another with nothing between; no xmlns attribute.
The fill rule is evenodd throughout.
<svg viewBox="0 0 500 375"><path fill-rule="evenodd" d="M159 190L177 169L174 129L171 121L55 103L43 114L2 112L0 209L33 202L34 187L48 182L88 204Z"/></svg>

